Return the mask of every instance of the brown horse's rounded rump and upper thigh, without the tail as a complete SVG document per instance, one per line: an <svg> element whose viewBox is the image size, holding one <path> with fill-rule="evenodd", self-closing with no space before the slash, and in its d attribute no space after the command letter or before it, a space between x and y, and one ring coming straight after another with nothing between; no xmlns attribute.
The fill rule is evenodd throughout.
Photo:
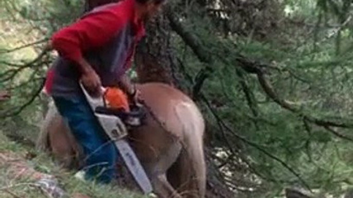
<svg viewBox="0 0 353 198"><path fill-rule="evenodd" d="M160 124L147 113L146 124L132 131L130 135L134 140L132 146L136 149L136 154L141 161L154 161L167 152L173 143L183 140L184 122L195 121L201 123L203 127L201 113L195 104L178 89L162 83L147 83L138 85L137 88L141 91L145 104L167 130L162 129ZM179 115L176 108L184 108L185 112L185 105L188 106L189 113Z"/></svg>

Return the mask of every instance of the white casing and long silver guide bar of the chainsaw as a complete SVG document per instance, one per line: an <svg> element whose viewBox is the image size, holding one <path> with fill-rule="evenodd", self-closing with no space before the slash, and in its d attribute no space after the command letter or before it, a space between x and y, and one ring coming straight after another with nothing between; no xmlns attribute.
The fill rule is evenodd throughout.
<svg viewBox="0 0 353 198"><path fill-rule="evenodd" d="M109 113L113 111L109 111L109 107L107 107L103 96L94 98L85 90L81 83L80 86L87 99L87 102L90 104L95 116L98 118L100 125L104 129L105 133L107 133L111 138L111 140L114 141L118 152L122 156L123 161L133 175L134 180L145 194L151 193L151 182L148 179L144 168L137 159L135 152L126 141L125 137L128 135L128 130L125 124L122 122L119 116L114 113Z"/></svg>

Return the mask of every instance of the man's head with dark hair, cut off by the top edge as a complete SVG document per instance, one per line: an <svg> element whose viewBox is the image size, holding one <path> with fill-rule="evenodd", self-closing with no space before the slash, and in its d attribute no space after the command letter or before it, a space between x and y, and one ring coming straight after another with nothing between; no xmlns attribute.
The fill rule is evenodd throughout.
<svg viewBox="0 0 353 198"><path fill-rule="evenodd" d="M154 16L167 0L135 0L137 15L143 21Z"/></svg>

